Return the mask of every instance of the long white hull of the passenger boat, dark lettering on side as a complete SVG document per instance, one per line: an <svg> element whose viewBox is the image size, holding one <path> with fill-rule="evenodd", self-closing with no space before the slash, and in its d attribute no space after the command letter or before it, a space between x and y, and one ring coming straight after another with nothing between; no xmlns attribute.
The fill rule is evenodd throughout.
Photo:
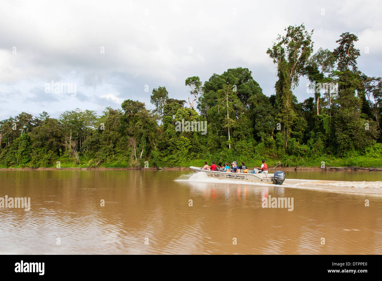
<svg viewBox="0 0 382 281"><path fill-rule="evenodd" d="M203 170L200 167L193 166L191 166L190 169L194 172L204 172L209 177L214 177L216 179L240 180L242 182L258 182L261 184L280 184L279 182L277 183L274 174L243 174L233 172L218 172Z"/></svg>

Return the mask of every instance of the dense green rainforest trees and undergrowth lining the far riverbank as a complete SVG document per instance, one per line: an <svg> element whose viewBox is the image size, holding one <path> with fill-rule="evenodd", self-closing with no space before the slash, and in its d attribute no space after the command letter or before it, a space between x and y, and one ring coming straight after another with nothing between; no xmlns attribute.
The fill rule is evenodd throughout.
<svg viewBox="0 0 382 281"><path fill-rule="evenodd" d="M358 38L343 33L333 52L313 54L313 31L303 25L285 31L267 50L278 77L270 97L248 68L238 67L204 84L188 78L191 101L169 98L164 86L154 89L152 111L126 100L101 116L80 109L58 119L21 112L0 122L0 165L142 167L148 161L175 167L236 160L258 166L267 159L274 166L382 166L382 82L358 70ZM312 96L298 102L293 89L301 76L311 81ZM188 130L187 121L199 127ZM184 130L175 130L177 124Z"/></svg>

